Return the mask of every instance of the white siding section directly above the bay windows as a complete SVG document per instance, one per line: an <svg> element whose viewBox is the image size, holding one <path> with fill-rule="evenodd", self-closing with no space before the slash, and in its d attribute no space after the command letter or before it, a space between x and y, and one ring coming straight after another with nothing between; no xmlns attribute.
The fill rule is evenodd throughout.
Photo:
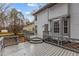
<svg viewBox="0 0 79 59"><path fill-rule="evenodd" d="M49 19L67 14L68 14L68 4L57 4L49 9Z"/></svg>

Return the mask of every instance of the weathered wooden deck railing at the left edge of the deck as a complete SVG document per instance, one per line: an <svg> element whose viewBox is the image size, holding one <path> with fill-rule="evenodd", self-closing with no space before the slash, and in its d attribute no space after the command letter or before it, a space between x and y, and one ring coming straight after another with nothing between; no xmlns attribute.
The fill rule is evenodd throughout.
<svg viewBox="0 0 79 59"><path fill-rule="evenodd" d="M0 38L0 56L3 56L4 48L10 45L17 45L19 43L18 36L5 36ZM14 43L14 42L15 43Z"/></svg>

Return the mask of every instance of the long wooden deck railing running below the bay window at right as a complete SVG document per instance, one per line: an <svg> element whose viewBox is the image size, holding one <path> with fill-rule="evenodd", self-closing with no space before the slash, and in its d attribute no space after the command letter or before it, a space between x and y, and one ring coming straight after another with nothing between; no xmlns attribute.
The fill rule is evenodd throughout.
<svg viewBox="0 0 79 59"><path fill-rule="evenodd" d="M54 44L79 53L79 39L64 36L52 36L50 35L50 33L51 32L49 31L43 32L44 42Z"/></svg>

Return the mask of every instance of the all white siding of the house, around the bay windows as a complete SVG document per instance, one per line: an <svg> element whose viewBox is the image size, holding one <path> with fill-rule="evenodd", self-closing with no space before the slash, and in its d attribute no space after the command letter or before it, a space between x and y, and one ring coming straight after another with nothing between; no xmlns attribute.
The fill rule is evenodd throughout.
<svg viewBox="0 0 79 59"><path fill-rule="evenodd" d="M53 20L53 18L69 15L70 14L70 37L79 39L79 4L57 4L49 9L43 10L37 14L37 34L43 35L43 25L49 24L49 31L52 28L53 31L53 21L51 25L48 20ZM53 32L51 32L53 33Z"/></svg>

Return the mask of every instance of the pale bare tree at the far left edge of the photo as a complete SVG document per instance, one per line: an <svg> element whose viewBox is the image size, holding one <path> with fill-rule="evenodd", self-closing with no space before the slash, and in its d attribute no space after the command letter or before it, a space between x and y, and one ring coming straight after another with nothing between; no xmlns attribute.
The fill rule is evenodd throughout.
<svg viewBox="0 0 79 59"><path fill-rule="evenodd" d="M0 4L0 25L2 29L6 25L7 20L7 10L9 9L10 4Z"/></svg>

